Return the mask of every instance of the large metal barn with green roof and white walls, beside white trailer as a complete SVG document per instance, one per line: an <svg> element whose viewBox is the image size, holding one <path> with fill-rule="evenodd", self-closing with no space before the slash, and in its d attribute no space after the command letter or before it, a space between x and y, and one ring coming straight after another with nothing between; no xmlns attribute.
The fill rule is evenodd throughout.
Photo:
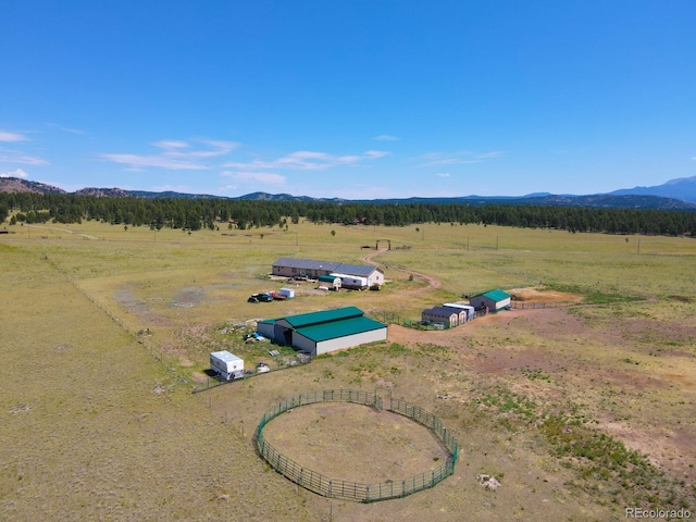
<svg viewBox="0 0 696 522"><path fill-rule="evenodd" d="M356 307L259 321L257 331L278 345L312 357L387 338L387 325L365 318Z"/></svg>

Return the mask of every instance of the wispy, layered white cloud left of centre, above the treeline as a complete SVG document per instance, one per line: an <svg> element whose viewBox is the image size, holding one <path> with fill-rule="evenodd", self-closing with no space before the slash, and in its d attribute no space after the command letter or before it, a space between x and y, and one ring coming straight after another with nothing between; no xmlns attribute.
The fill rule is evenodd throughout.
<svg viewBox="0 0 696 522"><path fill-rule="evenodd" d="M239 144L235 141L214 139L197 139L195 144L199 147L194 147L188 141L164 139L151 144L160 149L160 152L156 154L103 153L99 157L135 170L153 166L170 171L204 171L210 169L210 165L202 160L226 156L239 147ZM200 145L204 147L200 147Z"/></svg>

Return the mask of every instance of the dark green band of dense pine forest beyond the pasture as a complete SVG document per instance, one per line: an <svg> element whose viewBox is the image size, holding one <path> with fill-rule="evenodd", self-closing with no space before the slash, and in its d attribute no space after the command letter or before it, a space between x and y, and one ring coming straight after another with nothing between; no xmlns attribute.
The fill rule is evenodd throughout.
<svg viewBox="0 0 696 522"><path fill-rule="evenodd" d="M16 212L15 212L16 211ZM312 223L405 226L421 223L488 224L607 234L696 237L696 212L504 204L376 204L254 201L224 198L104 198L64 194L0 194L0 222L82 223L199 231L285 227Z"/></svg>

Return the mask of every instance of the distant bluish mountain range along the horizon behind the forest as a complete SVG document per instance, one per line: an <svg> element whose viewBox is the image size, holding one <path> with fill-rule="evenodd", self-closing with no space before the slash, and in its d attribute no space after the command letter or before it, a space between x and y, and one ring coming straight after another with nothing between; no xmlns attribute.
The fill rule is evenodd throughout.
<svg viewBox="0 0 696 522"><path fill-rule="evenodd" d="M347 200L340 198L312 198L309 196L291 196L289 194L252 192L236 198L221 196L184 194L184 192L150 192L146 190L124 190L121 188L83 188L75 192L37 182L29 182L17 177L0 178L0 192L36 192L36 194L73 194L75 196L94 196L103 198L222 198L244 199L253 201L316 201L327 203L434 203L434 204L532 204L546 207L592 207L612 209L658 209L658 210L696 210L696 176L671 179L654 187L622 188L608 194L588 196L554 195L548 192L529 194L526 196L461 196L452 198L405 198L405 199L373 199Z"/></svg>

